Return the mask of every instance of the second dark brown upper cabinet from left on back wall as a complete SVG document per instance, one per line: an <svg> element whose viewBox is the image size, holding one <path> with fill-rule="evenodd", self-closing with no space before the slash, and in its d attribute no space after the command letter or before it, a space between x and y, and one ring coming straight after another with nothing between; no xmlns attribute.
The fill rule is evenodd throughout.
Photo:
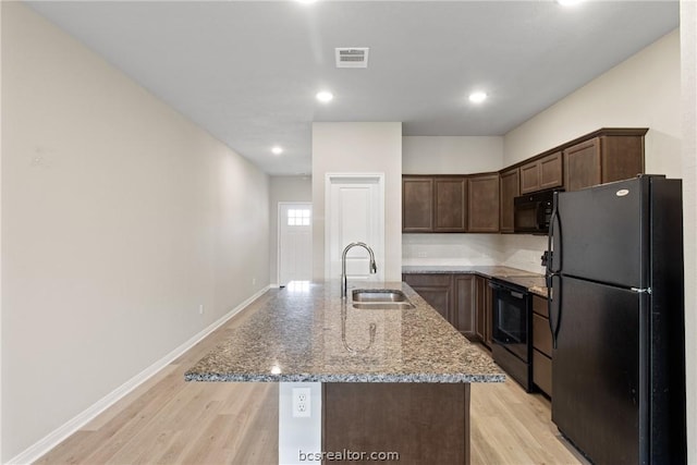
<svg viewBox="0 0 697 465"><path fill-rule="evenodd" d="M435 178L433 232L465 232L467 225L467 179Z"/></svg>

